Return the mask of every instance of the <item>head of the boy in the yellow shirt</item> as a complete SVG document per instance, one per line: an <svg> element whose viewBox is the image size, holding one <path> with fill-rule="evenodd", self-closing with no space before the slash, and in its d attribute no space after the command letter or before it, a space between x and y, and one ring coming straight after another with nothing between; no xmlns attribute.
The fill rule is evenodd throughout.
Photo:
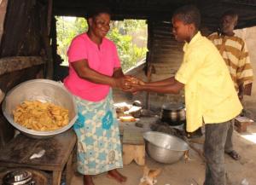
<svg viewBox="0 0 256 185"><path fill-rule="evenodd" d="M195 6L187 5L172 15L172 32L177 41L188 41L201 25L201 14Z"/></svg>

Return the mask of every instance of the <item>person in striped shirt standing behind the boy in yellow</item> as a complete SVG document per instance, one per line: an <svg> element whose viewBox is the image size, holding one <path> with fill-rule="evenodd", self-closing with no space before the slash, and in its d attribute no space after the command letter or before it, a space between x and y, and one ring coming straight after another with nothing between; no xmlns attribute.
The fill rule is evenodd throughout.
<svg viewBox="0 0 256 185"><path fill-rule="evenodd" d="M235 84L236 92L240 101L242 101L243 95L251 95L253 68L246 43L234 33L237 20L238 14L232 10L226 11L220 20L218 32L212 33L208 38L218 48L220 55L223 56ZM233 149L233 130L234 125L230 124L225 143L225 153L228 153L231 158L237 160L240 159L240 155Z"/></svg>

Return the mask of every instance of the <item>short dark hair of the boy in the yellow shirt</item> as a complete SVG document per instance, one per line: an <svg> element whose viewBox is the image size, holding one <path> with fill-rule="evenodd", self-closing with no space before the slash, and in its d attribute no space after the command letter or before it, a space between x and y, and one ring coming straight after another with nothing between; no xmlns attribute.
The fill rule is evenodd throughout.
<svg viewBox="0 0 256 185"><path fill-rule="evenodd" d="M201 25L201 14L199 9L194 5L185 5L177 9L172 17L176 16L179 20L182 20L185 24L194 24L195 28L199 29Z"/></svg>

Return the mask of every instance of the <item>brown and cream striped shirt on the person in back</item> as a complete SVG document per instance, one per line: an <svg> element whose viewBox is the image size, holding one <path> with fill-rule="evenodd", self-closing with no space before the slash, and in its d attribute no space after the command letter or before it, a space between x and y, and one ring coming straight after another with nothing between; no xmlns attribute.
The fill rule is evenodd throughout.
<svg viewBox="0 0 256 185"><path fill-rule="evenodd" d="M242 38L234 36L224 36L218 32L212 33L208 37L218 48L220 55L226 62L231 78L235 84L236 91L243 84L253 83L253 68L247 51L247 45Z"/></svg>

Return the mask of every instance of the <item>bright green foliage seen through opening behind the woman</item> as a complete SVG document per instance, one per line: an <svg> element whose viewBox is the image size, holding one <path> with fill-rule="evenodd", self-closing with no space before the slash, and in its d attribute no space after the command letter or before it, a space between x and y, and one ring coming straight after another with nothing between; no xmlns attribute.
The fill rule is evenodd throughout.
<svg viewBox="0 0 256 185"><path fill-rule="evenodd" d="M56 17L57 19L57 43L58 54L64 60L63 65L67 65L67 49L72 39L79 33L87 31L87 22L84 18L75 18L75 20ZM147 52L147 35L142 31L147 31L145 20L124 20L113 21L111 30L108 32L108 38L116 44L119 58L124 71L135 66L137 61L143 59ZM139 37L137 36L139 35ZM134 36L143 43L143 46L137 46L133 41Z"/></svg>

